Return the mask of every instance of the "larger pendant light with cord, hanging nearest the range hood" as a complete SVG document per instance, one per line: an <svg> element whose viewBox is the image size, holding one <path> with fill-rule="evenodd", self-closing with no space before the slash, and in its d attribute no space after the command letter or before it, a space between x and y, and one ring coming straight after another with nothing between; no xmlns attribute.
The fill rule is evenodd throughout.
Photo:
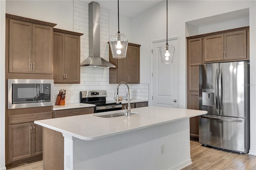
<svg viewBox="0 0 256 170"><path fill-rule="evenodd" d="M119 32L119 0L118 4L118 32L117 34L112 34L109 37L110 49L113 58L125 58L128 46L128 37L125 34Z"/></svg>

